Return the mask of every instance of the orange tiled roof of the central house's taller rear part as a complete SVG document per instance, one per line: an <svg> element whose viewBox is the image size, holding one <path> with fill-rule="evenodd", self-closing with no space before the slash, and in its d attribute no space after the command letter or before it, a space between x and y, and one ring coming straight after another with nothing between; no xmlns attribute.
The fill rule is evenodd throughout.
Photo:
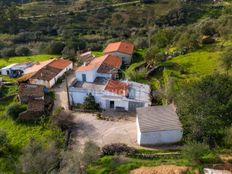
<svg viewBox="0 0 232 174"><path fill-rule="evenodd" d="M88 65L83 65L77 69L77 72L97 70L99 73L108 73L110 70L119 69L122 60L119 57L104 55L93 59Z"/></svg>

